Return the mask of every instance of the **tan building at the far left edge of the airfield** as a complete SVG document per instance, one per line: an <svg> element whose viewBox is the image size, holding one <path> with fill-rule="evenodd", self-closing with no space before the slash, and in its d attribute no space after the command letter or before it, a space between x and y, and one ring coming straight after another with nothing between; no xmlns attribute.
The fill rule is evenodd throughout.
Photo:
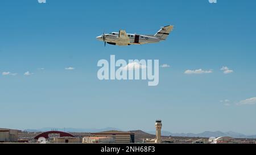
<svg viewBox="0 0 256 155"><path fill-rule="evenodd" d="M0 128L0 142L17 142L19 132L22 131L16 129Z"/></svg>

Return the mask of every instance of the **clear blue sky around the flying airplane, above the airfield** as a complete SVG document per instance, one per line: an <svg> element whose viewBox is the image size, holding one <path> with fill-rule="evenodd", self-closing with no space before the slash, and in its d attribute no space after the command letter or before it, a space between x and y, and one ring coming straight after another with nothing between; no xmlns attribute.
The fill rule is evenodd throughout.
<svg viewBox="0 0 256 155"><path fill-rule="evenodd" d="M255 6L238 0L3 0L0 125L152 131L162 119L170 132L256 134ZM154 34L168 24L174 31L159 44L104 48L95 39L120 28ZM110 55L171 67L159 69L155 87L99 81L97 62ZM233 73L224 74L222 66ZM184 73L197 69L212 73Z"/></svg>

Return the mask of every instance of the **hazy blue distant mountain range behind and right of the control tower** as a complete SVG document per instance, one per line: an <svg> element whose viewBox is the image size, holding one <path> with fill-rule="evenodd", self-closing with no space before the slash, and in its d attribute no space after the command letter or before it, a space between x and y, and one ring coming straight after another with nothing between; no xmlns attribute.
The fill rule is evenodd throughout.
<svg viewBox="0 0 256 155"><path fill-rule="evenodd" d="M151 131L149 133L155 133L155 131ZM255 139L256 135L243 135L242 133L237 133L233 131L229 132L221 132L221 131L205 131L202 133L171 133L168 131L162 131L163 136L173 136L173 137L233 137L233 138L251 138Z"/></svg>

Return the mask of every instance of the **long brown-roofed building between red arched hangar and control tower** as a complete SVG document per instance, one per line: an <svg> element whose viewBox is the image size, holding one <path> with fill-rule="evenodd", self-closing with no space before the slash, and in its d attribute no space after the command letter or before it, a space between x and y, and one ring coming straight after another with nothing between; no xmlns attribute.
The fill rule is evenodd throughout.
<svg viewBox="0 0 256 155"><path fill-rule="evenodd" d="M94 137L113 137L114 143L134 143L134 133L123 131L104 131L91 133Z"/></svg>

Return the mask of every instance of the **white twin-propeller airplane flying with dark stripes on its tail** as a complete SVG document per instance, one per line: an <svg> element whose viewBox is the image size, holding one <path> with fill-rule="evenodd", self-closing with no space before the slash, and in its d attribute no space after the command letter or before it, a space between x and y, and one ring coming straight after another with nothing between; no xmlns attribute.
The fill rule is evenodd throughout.
<svg viewBox="0 0 256 155"><path fill-rule="evenodd" d="M112 32L109 34L103 33L103 35L97 36L96 39L100 41L104 41L111 45L141 45L141 44L149 44L149 43L159 43L159 41L164 41L167 39L167 36L173 30L174 26L165 26L161 27L161 29L155 33L155 35L138 35L126 33L125 30L120 30L119 32Z"/></svg>

